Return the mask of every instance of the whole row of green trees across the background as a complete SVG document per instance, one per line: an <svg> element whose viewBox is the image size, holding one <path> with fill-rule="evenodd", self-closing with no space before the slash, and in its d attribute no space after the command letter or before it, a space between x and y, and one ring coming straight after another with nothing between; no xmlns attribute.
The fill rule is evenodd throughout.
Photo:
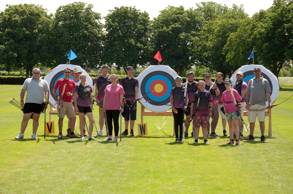
<svg viewBox="0 0 293 194"><path fill-rule="evenodd" d="M231 75L255 50L254 64L264 65L278 76L293 59L293 3L274 0L267 10L252 17L243 6L215 2L196 3L196 8L167 6L150 20L135 7L115 7L101 22L93 5L74 2L60 6L55 15L34 4L7 5L0 13L0 68L25 70L53 68L68 63L85 69L101 65L124 69L157 64L179 75L196 68L210 68Z"/></svg>

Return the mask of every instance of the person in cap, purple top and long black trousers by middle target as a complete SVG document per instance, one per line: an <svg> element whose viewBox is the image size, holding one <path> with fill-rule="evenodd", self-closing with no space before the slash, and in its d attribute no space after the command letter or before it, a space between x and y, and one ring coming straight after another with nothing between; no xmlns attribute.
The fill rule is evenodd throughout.
<svg viewBox="0 0 293 194"><path fill-rule="evenodd" d="M184 90L185 87L182 86L182 78L177 76L175 78L176 87L173 87L170 92L170 103L172 106L172 113L174 117L174 128L175 128L175 142L182 142L183 137L183 107L182 103L184 101ZM186 95L186 100L184 104L184 110L186 110L188 104L188 95ZM178 129L179 125L179 129ZM178 131L179 130L179 131ZM178 135L179 132L179 135Z"/></svg>

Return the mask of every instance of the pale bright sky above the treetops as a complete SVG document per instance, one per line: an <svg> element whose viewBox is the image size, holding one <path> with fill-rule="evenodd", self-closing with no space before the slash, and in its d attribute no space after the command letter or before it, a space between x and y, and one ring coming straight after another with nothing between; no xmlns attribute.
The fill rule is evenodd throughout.
<svg viewBox="0 0 293 194"><path fill-rule="evenodd" d="M79 0L76 0L79 1ZM82 2L93 4L93 11L101 14L102 17L109 14L109 10L113 10L114 7L121 6L135 6L136 9L140 9L140 11L146 11L149 13L150 19L154 17L158 17L159 11L165 9L168 5L171 6L183 6L185 9L189 9L190 7L194 7L195 3L207 2L205 0L168 0L168 1L158 1L158 0L80 0ZM222 5L226 5L229 8L232 7L233 3L237 6L243 4L244 10L248 13L249 16L252 16L256 12L260 10L266 10L272 6L273 0L209 0L217 3L221 3ZM47 8L48 13L55 14L55 11L59 6L67 5L69 3L73 3L72 0L0 0L0 11L4 11L6 8L6 4L16 5L16 4L24 4L24 3L33 3L36 5L42 5L43 8ZM103 22L103 21L102 21Z"/></svg>

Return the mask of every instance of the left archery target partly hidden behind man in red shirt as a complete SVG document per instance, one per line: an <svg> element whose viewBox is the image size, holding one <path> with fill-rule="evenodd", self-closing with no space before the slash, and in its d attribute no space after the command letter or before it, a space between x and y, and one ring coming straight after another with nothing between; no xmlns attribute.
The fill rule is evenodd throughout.
<svg viewBox="0 0 293 194"><path fill-rule="evenodd" d="M55 96L53 96L52 92L54 89L54 86L57 82L58 79L64 78L64 69L65 68L69 68L71 69L71 72L73 71L74 68L78 68L79 71L81 71L83 74L86 75L87 77L87 81L86 83L88 85L90 85L91 87L93 87L93 80L90 77L90 75L83 70L80 66L78 65L70 65L70 64L64 64L64 65L58 65L57 67L55 67L54 69L52 69L47 76L44 78L44 80L46 80L48 82L49 85L49 89L50 89L50 93L51 95L49 95L49 102L53 105L53 107L57 108L57 98ZM70 79L73 79L74 77L70 75ZM56 93L59 95L59 89L56 90Z"/></svg>

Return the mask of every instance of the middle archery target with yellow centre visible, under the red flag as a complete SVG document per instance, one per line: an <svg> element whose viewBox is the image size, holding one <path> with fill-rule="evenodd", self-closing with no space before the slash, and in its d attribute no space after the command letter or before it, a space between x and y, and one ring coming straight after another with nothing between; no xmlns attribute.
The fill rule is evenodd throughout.
<svg viewBox="0 0 293 194"><path fill-rule="evenodd" d="M142 98L149 91L153 92L149 92L144 96L144 98L140 100L140 103L142 103L146 109L153 112L168 111L171 108L170 92L172 87L176 86L175 77L177 75L178 74L174 70L166 65L151 65L141 72L137 77L140 86L138 98Z"/></svg>

